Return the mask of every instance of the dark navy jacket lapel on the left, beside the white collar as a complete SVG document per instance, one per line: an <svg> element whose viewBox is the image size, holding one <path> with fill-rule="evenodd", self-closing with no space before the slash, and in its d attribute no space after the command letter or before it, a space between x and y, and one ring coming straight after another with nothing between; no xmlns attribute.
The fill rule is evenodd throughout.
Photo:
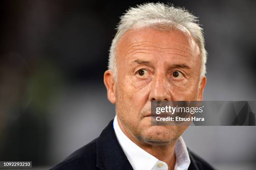
<svg viewBox="0 0 256 170"><path fill-rule="evenodd" d="M115 136L113 120L100 134L96 147L96 164L101 170L133 170Z"/></svg>

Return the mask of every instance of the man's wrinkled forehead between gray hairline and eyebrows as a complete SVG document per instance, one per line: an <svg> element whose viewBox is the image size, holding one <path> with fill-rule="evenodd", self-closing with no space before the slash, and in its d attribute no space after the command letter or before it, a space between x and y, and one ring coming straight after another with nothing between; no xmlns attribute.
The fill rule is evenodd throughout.
<svg viewBox="0 0 256 170"><path fill-rule="evenodd" d="M136 53L140 49L147 49L152 53L172 51L190 57L200 55L199 47L190 35L185 35L179 30L142 28L128 30L121 37L116 51L117 60L123 60L126 55Z"/></svg>

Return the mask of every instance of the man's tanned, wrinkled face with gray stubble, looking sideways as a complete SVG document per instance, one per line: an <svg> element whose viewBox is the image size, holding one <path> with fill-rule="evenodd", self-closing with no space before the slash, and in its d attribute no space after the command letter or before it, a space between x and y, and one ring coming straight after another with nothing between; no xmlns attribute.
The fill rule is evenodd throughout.
<svg viewBox="0 0 256 170"><path fill-rule="evenodd" d="M151 101L201 100L200 50L179 30L128 30L117 47L117 82L110 101L126 132L146 143L177 140L186 126L151 126Z"/></svg>

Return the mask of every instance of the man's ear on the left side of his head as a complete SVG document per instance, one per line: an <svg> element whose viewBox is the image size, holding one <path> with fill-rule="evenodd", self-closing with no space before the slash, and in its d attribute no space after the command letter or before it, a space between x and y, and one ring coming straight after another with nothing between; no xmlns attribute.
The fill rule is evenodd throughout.
<svg viewBox="0 0 256 170"><path fill-rule="evenodd" d="M115 76L111 70L105 71L104 84L108 91L108 100L115 104Z"/></svg>

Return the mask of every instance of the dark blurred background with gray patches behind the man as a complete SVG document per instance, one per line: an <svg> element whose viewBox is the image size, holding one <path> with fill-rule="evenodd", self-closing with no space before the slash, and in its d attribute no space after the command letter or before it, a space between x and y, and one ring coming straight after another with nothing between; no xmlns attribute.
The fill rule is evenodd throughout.
<svg viewBox="0 0 256 170"><path fill-rule="evenodd" d="M103 84L115 26L143 2L0 2L0 161L48 169L100 134L115 115ZM256 100L256 2L161 2L185 7L204 28L204 100ZM255 126L192 126L183 138L215 168L256 168Z"/></svg>

